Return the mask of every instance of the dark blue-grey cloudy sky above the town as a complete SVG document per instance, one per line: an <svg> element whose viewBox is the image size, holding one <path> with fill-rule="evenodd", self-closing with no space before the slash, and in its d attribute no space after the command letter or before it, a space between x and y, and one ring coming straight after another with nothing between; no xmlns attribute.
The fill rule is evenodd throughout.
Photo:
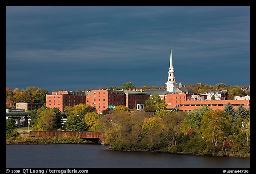
<svg viewBox="0 0 256 174"><path fill-rule="evenodd" d="M250 85L250 6L6 6L6 87Z"/></svg>

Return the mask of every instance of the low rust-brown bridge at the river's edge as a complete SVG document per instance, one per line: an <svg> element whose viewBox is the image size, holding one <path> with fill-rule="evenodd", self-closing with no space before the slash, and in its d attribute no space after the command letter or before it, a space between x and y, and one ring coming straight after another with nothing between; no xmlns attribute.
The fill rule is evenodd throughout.
<svg viewBox="0 0 256 174"><path fill-rule="evenodd" d="M76 136L79 138L100 139L102 132L97 131L30 131L31 136L55 137L55 136Z"/></svg>

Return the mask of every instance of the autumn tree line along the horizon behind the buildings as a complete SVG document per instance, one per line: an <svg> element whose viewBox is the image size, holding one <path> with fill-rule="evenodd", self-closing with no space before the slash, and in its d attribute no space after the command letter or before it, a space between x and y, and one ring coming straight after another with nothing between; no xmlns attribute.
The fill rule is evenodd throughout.
<svg viewBox="0 0 256 174"><path fill-rule="evenodd" d="M218 89L218 90L228 90L228 99L234 100L235 96L246 96L250 95L250 91L244 92L241 88L249 88L248 86L230 86L225 85L224 83L217 83L215 86L212 85L203 85L201 83L197 83L195 85L186 85L189 89L192 89L193 91L197 93L204 93L209 90ZM156 86L141 86L141 87L135 87L132 85L131 81L125 82L120 87L116 86L110 86L108 88L99 88L99 89L166 89L166 86L164 87L156 87ZM85 91L92 91L94 89L90 88L87 90L77 90L79 92L85 92ZM63 91L63 89L60 89L60 91ZM28 86L26 89L19 90L18 88L15 88L11 90L9 87L5 89L5 104L6 108L15 109L15 103L19 102L29 102L29 103L42 103L44 104L46 102L46 95L50 94L48 90L42 90L36 86Z"/></svg>

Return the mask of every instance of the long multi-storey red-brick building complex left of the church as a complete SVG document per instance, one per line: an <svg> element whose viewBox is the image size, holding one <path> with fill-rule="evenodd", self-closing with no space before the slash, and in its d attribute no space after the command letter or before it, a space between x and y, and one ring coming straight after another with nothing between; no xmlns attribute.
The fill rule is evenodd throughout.
<svg viewBox="0 0 256 174"><path fill-rule="evenodd" d="M92 90L88 92L54 91L52 95L46 95L46 106L59 108L61 112L65 106L77 104L88 104L102 113L107 108L114 108L119 105L128 108L136 108L137 104L144 106L149 93L138 89L129 90Z"/></svg>

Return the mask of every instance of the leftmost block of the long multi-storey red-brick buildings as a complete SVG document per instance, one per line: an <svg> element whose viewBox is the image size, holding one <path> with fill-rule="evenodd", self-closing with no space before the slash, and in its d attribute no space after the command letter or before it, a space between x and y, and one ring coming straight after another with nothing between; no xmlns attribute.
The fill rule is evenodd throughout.
<svg viewBox="0 0 256 174"><path fill-rule="evenodd" d="M53 91L52 95L46 95L48 108L59 108L63 112L65 106L85 104L85 92L76 91Z"/></svg>

